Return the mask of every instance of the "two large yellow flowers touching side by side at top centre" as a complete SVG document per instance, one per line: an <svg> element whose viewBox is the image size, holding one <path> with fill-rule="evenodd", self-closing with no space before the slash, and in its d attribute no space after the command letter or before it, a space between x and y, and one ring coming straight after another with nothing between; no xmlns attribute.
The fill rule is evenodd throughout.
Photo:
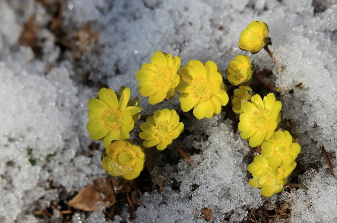
<svg viewBox="0 0 337 223"><path fill-rule="evenodd" d="M180 68L179 56L172 57L159 51L150 61L136 74L139 93L149 97L150 104L173 98L177 90L181 110L193 109L194 116L202 119L220 113L221 107L228 103L223 77L215 62L203 64L199 60L190 60Z"/></svg>

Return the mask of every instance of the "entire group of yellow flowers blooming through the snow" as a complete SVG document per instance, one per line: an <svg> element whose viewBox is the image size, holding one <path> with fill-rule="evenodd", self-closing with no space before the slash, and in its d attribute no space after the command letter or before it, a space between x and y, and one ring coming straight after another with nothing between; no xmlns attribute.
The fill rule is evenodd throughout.
<svg viewBox="0 0 337 223"><path fill-rule="evenodd" d="M262 21L253 21L242 31L238 47L257 54L270 44L268 26ZM270 54L272 56L272 54ZM274 57L272 57L274 60ZM179 93L182 111L190 111L198 119L211 118L228 103L227 87L217 64L190 60L180 67L179 56L157 51L136 73L139 93L148 97L151 105L164 99L172 99L175 90ZM293 142L288 131L276 131L281 121L282 104L273 93L263 99L249 86L255 68L250 58L238 55L225 70L234 89L232 110L239 114L240 136L249 146L261 145L262 153L248 166L253 178L249 184L262 188L263 196L279 193L296 167L295 159L300 152L299 144ZM144 149L130 140L130 132L140 119L137 97L130 100L130 89L122 86L117 92L102 88L96 98L88 102L87 129L93 140L103 140L106 151L102 167L112 176L134 179L144 167ZM157 110L141 123L139 137L146 148L162 151L183 131L184 124L175 110Z"/></svg>

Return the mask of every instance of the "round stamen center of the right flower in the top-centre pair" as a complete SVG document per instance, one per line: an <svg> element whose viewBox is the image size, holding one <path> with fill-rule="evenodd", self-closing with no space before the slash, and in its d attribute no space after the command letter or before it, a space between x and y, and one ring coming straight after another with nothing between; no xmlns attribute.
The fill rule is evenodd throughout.
<svg viewBox="0 0 337 223"><path fill-rule="evenodd" d="M212 99L212 84L202 76L194 78L190 84L191 94L199 103L207 102Z"/></svg>

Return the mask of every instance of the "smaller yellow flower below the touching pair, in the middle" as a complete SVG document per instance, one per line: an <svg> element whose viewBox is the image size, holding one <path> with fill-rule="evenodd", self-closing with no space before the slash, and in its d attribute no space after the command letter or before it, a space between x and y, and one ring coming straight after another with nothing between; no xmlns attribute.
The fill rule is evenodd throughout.
<svg viewBox="0 0 337 223"><path fill-rule="evenodd" d="M158 150L164 150L177 138L184 129L184 123L179 122L179 115L174 110L157 110L140 125L143 130L139 137L145 139L143 146L150 148L157 145Z"/></svg>

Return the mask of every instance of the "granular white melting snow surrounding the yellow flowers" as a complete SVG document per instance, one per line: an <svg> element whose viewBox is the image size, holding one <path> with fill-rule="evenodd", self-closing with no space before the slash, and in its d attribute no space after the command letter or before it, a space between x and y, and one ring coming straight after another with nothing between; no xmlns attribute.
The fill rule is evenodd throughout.
<svg viewBox="0 0 337 223"><path fill-rule="evenodd" d="M243 53L237 47L240 32L258 19L268 24L270 48L284 71L264 51L247 55L257 70L273 70L267 80L281 90L283 119L296 127L302 148L298 162L310 168L299 176L300 188L262 198L248 185L246 167L254 154L224 120L225 111L202 121L187 113L189 134L177 142L193 152L193 164L160 163L154 170L165 172L163 190L143 194L132 219L205 222L201 210L210 208L212 222L239 222L265 202L273 207L286 201L292 204L290 222L337 221L337 181L319 148L325 146L337 167L336 0L48 1L55 2L67 38L76 39L77 30L87 25L99 35L80 57L79 47L64 50L48 28L49 10L55 8L33 0L0 1L0 222L46 222L34 212L69 200L105 176L103 148L89 149L85 129L86 103L99 86L125 85L132 97L140 97L135 73L157 50L180 56L182 64L213 60L224 73ZM19 41L31 14L40 27L38 55ZM177 96L156 106L142 97L140 103L147 113L180 112ZM176 183L178 189L172 189ZM53 220L60 221L57 208ZM127 222L126 210L112 220L103 212L76 211L72 221Z"/></svg>

